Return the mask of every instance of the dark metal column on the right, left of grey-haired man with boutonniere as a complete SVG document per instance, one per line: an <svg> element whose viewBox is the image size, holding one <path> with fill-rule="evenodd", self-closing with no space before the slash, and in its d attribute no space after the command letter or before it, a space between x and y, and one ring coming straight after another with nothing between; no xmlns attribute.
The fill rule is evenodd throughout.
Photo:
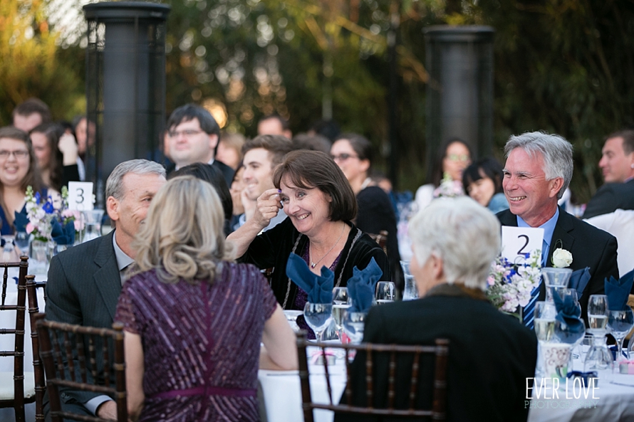
<svg viewBox="0 0 634 422"><path fill-rule="evenodd" d="M467 141L473 158L492 153L493 35L490 26L425 29L428 173L438 145L452 137Z"/></svg>

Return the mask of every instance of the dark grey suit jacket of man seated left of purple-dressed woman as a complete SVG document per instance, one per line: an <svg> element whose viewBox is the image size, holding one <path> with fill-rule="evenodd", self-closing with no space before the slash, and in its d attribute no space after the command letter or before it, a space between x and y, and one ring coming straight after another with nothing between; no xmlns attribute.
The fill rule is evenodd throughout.
<svg viewBox="0 0 634 422"><path fill-rule="evenodd" d="M46 283L47 320L112 328L121 292L113 236L114 231L53 257ZM100 354L97 358L97 365L103 367ZM63 403L85 403L99 395L66 389L61 392Z"/></svg>

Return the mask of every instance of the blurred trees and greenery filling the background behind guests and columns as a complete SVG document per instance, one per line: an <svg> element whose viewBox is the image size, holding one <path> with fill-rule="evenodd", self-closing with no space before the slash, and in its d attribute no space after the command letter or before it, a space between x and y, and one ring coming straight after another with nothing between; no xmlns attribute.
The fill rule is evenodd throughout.
<svg viewBox="0 0 634 422"><path fill-rule="evenodd" d="M321 119L326 95L343 130L372 140L383 169L390 153L387 38L395 14L401 189L415 189L424 181L427 74L422 30L432 24L495 29L497 158L503 158L509 134L546 130L563 135L575 146L571 187L581 201L601 184L597 163L603 138L632 124L633 1L165 3L172 6L167 21L168 113L192 101L224 108L226 130L253 136L259 117L279 112L290 118L297 133ZM46 27L42 7L43 0L0 1L1 124L9 122L16 102L29 96L48 102L55 117L70 118L84 104L80 39L60 41ZM33 29L31 38L27 27Z"/></svg>

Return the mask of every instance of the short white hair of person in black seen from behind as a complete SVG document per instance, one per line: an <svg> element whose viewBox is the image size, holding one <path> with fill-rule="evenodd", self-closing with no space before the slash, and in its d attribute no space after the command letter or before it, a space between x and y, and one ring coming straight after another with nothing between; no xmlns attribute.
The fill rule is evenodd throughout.
<svg viewBox="0 0 634 422"><path fill-rule="evenodd" d="M484 290L500 250L500 223L468 196L434 199L410 221L410 238L419 265L430 255L442 259L449 284Z"/></svg>

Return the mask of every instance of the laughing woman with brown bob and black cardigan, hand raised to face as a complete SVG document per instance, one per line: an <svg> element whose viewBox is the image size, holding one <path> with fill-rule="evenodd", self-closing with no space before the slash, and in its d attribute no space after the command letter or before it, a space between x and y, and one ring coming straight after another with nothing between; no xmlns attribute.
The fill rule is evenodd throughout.
<svg viewBox="0 0 634 422"><path fill-rule="evenodd" d="M363 270L375 258L390 280L388 258L378 244L350 221L357 203L341 169L323 152L293 151L273 175L276 189L258 199L254 218L227 237L241 260L274 268L271 288L284 309L303 310L306 292L286 276L291 253L301 256L313 273L326 267L335 273L335 287L345 287L353 268ZM261 230L284 208L288 216L269 231Z"/></svg>

